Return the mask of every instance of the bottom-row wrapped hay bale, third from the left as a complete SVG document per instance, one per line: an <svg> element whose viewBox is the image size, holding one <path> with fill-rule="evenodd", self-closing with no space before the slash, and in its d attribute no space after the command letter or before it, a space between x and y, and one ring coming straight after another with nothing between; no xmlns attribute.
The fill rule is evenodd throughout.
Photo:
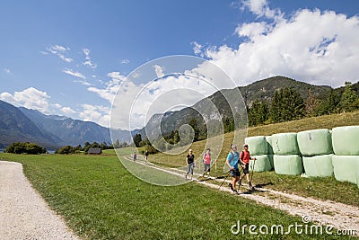
<svg viewBox="0 0 359 240"><path fill-rule="evenodd" d="M333 174L333 155L303 156L304 171L310 177L327 177Z"/></svg>

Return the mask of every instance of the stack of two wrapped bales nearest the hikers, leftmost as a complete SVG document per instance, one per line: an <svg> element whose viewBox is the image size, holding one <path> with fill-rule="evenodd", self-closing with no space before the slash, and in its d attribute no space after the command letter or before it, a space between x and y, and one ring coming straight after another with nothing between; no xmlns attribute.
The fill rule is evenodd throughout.
<svg viewBox="0 0 359 240"><path fill-rule="evenodd" d="M270 171L272 166L267 156L266 138L264 136L249 137L245 139L245 142L249 146L250 156L257 159L255 163L253 160L250 160L250 170L255 172Z"/></svg>

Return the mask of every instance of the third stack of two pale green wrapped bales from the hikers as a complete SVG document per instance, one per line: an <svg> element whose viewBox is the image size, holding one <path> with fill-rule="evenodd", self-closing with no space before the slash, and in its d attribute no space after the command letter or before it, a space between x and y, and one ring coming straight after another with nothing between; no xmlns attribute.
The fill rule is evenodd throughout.
<svg viewBox="0 0 359 240"><path fill-rule="evenodd" d="M328 129L301 131L297 135L304 171L311 177L333 174L331 134Z"/></svg>

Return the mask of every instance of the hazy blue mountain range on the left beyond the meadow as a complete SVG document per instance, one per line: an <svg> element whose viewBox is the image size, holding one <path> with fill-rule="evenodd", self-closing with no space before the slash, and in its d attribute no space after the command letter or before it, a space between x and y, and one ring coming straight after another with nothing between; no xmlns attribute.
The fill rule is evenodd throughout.
<svg viewBox="0 0 359 240"><path fill-rule="evenodd" d="M112 135L120 143L131 141L130 133L126 130L113 130ZM45 115L37 110L17 108L0 101L0 147L17 141L38 143L48 149L78 146L85 142L112 142L109 128L92 121Z"/></svg>

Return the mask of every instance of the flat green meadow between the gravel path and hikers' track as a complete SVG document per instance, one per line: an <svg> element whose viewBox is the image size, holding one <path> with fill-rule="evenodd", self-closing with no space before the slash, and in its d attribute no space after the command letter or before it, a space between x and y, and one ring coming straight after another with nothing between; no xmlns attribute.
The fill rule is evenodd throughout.
<svg viewBox="0 0 359 240"><path fill-rule="evenodd" d="M302 219L252 200L188 183L176 187L140 181L116 156L16 156L31 184L84 239L257 239L248 226L282 225ZM245 236L232 235L241 221ZM257 228L258 231L258 228ZM267 239L318 239L320 235L265 235ZM339 236L329 236L338 239ZM343 237L340 237L343 239Z"/></svg>

